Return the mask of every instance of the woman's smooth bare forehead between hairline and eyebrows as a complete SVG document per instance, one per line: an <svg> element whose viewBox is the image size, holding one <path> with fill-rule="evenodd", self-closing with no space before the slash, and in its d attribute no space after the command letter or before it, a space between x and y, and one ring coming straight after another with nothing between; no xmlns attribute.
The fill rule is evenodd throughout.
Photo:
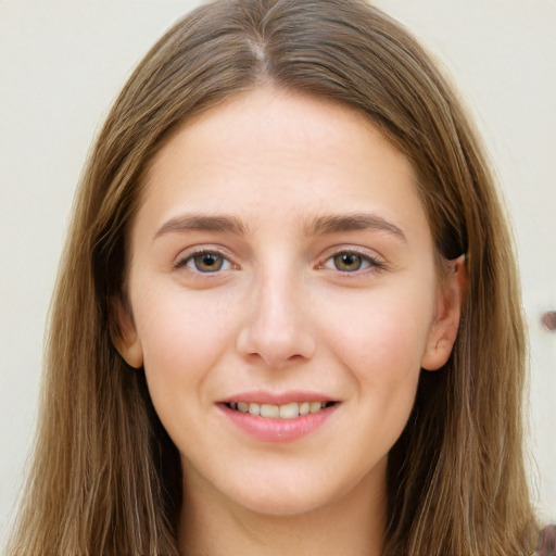
<svg viewBox="0 0 556 556"><path fill-rule="evenodd" d="M422 224L406 157L354 109L261 88L193 117L161 149L139 220L225 212L306 229L326 213L369 211Z"/></svg>

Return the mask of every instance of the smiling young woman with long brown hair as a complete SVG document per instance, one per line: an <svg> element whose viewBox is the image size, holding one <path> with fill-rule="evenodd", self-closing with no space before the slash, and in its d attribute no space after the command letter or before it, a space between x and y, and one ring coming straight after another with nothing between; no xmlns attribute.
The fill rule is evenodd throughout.
<svg viewBox="0 0 556 556"><path fill-rule="evenodd" d="M11 554L530 554L510 241L455 94L357 1L219 1L81 184Z"/></svg>

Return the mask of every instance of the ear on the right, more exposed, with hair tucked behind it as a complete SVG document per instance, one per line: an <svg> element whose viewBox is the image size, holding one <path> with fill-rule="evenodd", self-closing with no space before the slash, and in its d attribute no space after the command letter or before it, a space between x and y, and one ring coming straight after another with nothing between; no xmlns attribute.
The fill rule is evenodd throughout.
<svg viewBox="0 0 556 556"><path fill-rule="evenodd" d="M439 286L434 318L421 359L421 367L427 370L438 370L445 365L459 328L462 304L467 287L465 255L450 261L448 265Z"/></svg>

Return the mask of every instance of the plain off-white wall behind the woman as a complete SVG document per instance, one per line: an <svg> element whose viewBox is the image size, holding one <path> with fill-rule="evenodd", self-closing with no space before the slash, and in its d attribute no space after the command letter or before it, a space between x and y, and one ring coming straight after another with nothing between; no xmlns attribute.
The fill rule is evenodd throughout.
<svg viewBox="0 0 556 556"><path fill-rule="evenodd" d="M197 1L0 1L0 546L36 422L42 334L75 186L131 68ZM514 216L531 339L534 496L556 519L556 2L381 0L447 67Z"/></svg>

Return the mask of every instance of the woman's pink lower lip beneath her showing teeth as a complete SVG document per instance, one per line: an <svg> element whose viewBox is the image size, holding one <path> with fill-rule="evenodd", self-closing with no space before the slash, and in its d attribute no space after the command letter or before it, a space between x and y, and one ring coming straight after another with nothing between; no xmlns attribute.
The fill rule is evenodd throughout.
<svg viewBox="0 0 556 556"><path fill-rule="evenodd" d="M236 427L261 442L291 442L305 437L319 429L339 405L334 404L317 413L309 413L294 419L270 419L218 404L224 415Z"/></svg>

